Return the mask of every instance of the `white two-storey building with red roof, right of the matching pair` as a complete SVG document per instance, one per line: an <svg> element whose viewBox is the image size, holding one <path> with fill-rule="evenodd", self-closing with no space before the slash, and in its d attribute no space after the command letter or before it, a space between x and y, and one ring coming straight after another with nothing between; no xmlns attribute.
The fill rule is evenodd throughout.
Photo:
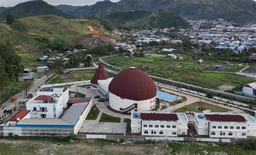
<svg viewBox="0 0 256 155"><path fill-rule="evenodd" d="M249 114L237 112L211 112L194 113L194 128L198 135L211 138L245 139L256 136L256 120Z"/></svg>

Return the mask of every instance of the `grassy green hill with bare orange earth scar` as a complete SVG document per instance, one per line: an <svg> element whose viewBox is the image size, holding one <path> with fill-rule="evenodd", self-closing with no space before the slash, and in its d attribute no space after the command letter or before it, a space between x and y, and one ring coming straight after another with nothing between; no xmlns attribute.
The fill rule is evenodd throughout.
<svg viewBox="0 0 256 155"><path fill-rule="evenodd" d="M93 31L88 26L93 27ZM46 47L52 50L71 50L74 44L87 47L109 44L113 27L96 19L65 19L45 15L21 18L12 25L0 22L0 38L9 40L28 57L43 54Z"/></svg>

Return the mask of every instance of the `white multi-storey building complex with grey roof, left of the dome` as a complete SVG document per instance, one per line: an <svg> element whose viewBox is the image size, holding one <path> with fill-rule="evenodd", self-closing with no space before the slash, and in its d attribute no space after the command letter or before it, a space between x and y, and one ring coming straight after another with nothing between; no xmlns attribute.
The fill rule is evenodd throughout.
<svg viewBox="0 0 256 155"><path fill-rule="evenodd" d="M77 134L92 107L91 98L73 100L65 87L41 88L6 123L3 136L59 136Z"/></svg>

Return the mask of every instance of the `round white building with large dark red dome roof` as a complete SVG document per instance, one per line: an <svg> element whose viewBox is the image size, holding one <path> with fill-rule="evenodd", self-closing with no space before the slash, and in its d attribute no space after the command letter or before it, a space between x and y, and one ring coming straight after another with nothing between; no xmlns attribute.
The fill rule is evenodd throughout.
<svg viewBox="0 0 256 155"><path fill-rule="evenodd" d="M128 112L152 110L156 106L157 87L149 75L130 67L117 74L109 84L109 105Z"/></svg>

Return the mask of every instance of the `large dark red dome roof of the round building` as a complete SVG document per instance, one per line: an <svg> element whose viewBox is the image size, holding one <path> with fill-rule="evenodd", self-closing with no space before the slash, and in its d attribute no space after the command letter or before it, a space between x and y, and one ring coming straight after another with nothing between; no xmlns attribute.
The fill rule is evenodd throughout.
<svg viewBox="0 0 256 155"><path fill-rule="evenodd" d="M119 97L142 101L156 97L157 87L149 75L131 67L114 77L109 84L109 91Z"/></svg>

